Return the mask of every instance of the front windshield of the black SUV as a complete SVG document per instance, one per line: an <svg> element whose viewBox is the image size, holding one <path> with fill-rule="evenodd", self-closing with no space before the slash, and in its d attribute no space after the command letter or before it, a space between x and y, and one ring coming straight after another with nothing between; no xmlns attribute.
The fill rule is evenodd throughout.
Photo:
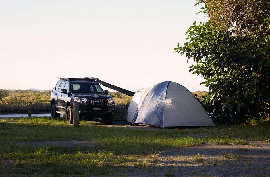
<svg viewBox="0 0 270 177"><path fill-rule="evenodd" d="M72 93L103 93L102 88L94 82L70 82Z"/></svg>

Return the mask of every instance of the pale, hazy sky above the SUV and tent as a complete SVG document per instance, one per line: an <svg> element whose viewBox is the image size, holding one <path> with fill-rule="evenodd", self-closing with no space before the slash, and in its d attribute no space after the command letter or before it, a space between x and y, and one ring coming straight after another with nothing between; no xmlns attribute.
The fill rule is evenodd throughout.
<svg viewBox="0 0 270 177"><path fill-rule="evenodd" d="M194 21L207 21L196 2L1 0L0 89L50 90L58 77L89 76L130 91L163 81L208 91L188 72L193 59L173 53Z"/></svg>

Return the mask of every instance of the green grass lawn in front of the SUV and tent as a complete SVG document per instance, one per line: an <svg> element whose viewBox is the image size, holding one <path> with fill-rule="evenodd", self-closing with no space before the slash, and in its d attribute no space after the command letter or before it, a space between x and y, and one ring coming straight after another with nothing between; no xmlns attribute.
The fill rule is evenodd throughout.
<svg viewBox="0 0 270 177"><path fill-rule="evenodd" d="M139 130L90 125L78 128L49 117L0 119L0 176L110 176L137 168L149 172L162 167L163 150L212 144L247 144L247 140L269 141L269 122L257 125L222 125L198 129ZM230 128L230 131L228 129ZM193 134L202 133L203 138ZM181 135L185 134L185 137ZM26 141L88 140L101 143L92 147L19 146ZM240 149L246 151L246 149ZM240 159L230 153L223 153ZM148 158L148 159L145 159ZM177 157L180 159L181 157ZM225 158L225 157L224 157ZM205 162L195 154L194 162ZM153 168L153 163L157 166ZM221 162L213 162L213 165ZM149 166L151 164L151 166ZM3 170L5 169L5 170ZM177 168L164 176L173 176Z"/></svg>

